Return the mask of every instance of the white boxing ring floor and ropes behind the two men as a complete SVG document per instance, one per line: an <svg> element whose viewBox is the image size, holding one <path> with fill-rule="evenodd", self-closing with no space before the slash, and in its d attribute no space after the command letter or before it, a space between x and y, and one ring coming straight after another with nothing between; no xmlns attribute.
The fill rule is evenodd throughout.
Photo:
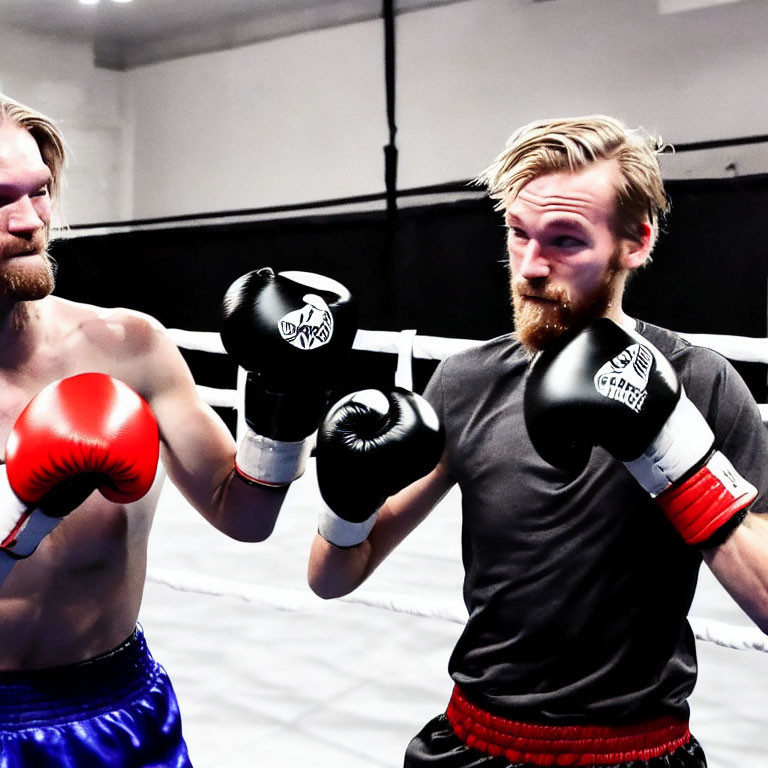
<svg viewBox="0 0 768 768"><path fill-rule="evenodd" d="M168 333L180 347L224 352L216 333ZM768 364L768 339L683 335L730 359ZM414 358L476 343L361 330L354 346L397 355L394 383L411 387ZM198 389L239 414L243 384L240 372L234 389ZM760 408L768 421L768 405ZM306 584L319 504L310 459L272 536L245 544L214 530L165 483L140 621L174 681L197 768L396 768L411 736L445 708L448 657L466 616L458 490L360 589L327 602ZM706 566L690 621L700 660L691 724L710 767L765 768L768 637Z"/></svg>

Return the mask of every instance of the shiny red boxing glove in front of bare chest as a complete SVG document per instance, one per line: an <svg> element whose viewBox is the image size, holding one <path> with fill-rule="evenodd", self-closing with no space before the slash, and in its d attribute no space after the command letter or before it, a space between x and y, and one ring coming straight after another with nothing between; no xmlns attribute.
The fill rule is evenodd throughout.
<svg viewBox="0 0 768 768"><path fill-rule="evenodd" d="M118 504L138 501L152 487L160 443L149 405L128 385L103 373L83 373L49 384L22 411L5 448L8 482L27 505L75 478L89 492ZM67 494L64 494L66 497ZM50 498L50 497L49 497Z"/></svg>

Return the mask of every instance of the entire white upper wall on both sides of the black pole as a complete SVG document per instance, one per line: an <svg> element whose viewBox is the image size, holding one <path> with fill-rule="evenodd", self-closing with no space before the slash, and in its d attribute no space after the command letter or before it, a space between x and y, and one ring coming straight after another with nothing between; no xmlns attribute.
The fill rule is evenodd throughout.
<svg viewBox="0 0 768 768"><path fill-rule="evenodd" d="M764 0L664 15L656 0L468 0L396 28L401 188L472 177L542 116L607 112L673 143L768 133ZM382 192L383 34L366 22L114 73L0 27L0 88L61 118L71 223ZM768 145L663 163L766 172Z"/></svg>

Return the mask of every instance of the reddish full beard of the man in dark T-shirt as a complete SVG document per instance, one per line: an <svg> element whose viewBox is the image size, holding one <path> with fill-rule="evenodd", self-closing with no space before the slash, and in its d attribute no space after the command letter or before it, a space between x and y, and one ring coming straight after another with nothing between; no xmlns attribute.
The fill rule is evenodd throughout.
<svg viewBox="0 0 768 768"><path fill-rule="evenodd" d="M511 293L517 338L530 351L537 352L564 334L578 331L590 321L603 317L613 303L619 279L618 258L614 257L600 284L578 304L564 288L513 280Z"/></svg>

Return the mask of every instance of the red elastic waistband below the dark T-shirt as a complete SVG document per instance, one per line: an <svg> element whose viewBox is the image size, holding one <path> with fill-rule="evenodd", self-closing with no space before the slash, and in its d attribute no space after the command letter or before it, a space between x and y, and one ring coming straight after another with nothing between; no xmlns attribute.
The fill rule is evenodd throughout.
<svg viewBox="0 0 768 768"><path fill-rule="evenodd" d="M673 717L618 726L518 723L484 712L458 686L446 715L468 747L510 763L617 765L669 754L691 738L688 723Z"/></svg>

